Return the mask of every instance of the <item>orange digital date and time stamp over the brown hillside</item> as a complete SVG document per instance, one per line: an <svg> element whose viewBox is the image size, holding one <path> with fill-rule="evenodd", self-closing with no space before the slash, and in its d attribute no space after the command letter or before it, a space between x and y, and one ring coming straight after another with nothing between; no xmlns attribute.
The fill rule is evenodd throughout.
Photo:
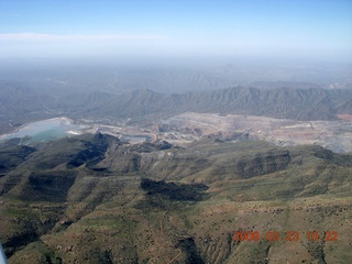
<svg viewBox="0 0 352 264"><path fill-rule="evenodd" d="M277 242L277 241L287 241L287 242L297 242L301 240L307 241L338 241L339 233L337 231L323 231L318 232L316 230L308 232L298 232L298 231L233 231L233 241L268 241L268 242Z"/></svg>

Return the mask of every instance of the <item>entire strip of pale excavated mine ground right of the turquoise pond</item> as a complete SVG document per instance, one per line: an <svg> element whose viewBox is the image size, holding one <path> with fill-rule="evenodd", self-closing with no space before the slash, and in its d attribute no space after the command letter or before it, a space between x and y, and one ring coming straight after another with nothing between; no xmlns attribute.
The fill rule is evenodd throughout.
<svg viewBox="0 0 352 264"><path fill-rule="evenodd" d="M84 124L72 134L105 133L130 143L166 140L185 145L204 136L220 140L264 140L279 146L317 144L337 153L352 152L352 114L339 114L337 121L296 121L255 116L186 112L146 127L102 124L99 120L78 120ZM6 136L6 135L4 135Z"/></svg>

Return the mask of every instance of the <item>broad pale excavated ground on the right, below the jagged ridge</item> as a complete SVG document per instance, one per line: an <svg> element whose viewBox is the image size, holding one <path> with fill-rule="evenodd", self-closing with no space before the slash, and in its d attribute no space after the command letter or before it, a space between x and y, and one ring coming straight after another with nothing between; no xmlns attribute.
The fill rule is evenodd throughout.
<svg viewBox="0 0 352 264"><path fill-rule="evenodd" d="M295 121L253 116L219 116L213 113L187 112L173 117L160 124L166 140L180 140L188 134L197 140L200 135L216 134L223 139L248 136L276 145L317 144L331 151L352 151L352 122L343 116L338 121Z"/></svg>

